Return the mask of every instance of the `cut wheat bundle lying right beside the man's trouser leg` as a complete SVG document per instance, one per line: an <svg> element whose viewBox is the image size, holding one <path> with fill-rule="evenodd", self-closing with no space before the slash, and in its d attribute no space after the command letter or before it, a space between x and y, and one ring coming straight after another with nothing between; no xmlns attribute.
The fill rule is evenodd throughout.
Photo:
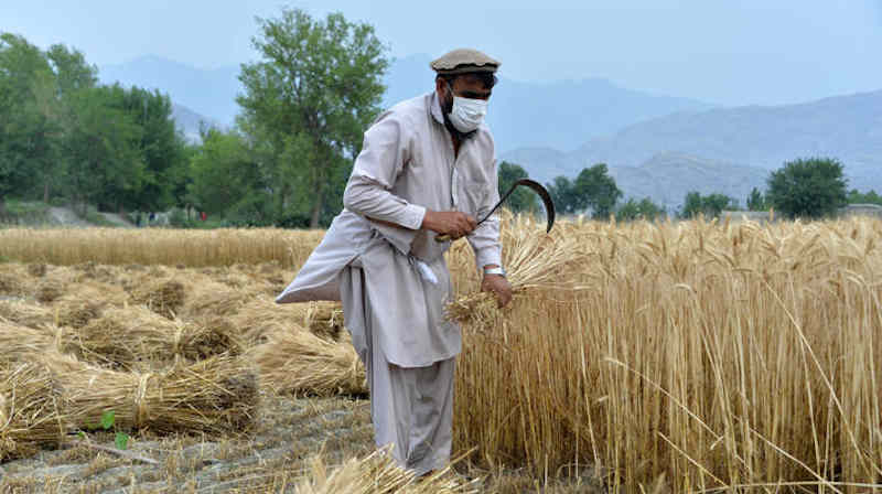
<svg viewBox="0 0 882 494"><path fill-rule="evenodd" d="M276 330L249 356L260 369L261 383L276 393L364 395L364 366L348 333L343 334L333 342L302 327Z"/></svg>

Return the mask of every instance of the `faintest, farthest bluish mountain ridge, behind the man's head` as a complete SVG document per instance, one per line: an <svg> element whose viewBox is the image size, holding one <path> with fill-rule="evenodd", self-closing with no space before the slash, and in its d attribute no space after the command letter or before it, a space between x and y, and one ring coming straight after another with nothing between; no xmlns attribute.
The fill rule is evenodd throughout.
<svg viewBox="0 0 882 494"><path fill-rule="evenodd" d="M413 55L395 61L384 79L387 90L383 106L433 90L430 60L428 55ZM232 126L238 112L235 97L241 93L238 73L233 66L204 71L143 56L101 67L98 76L104 83L159 88L192 111ZM624 89L604 79L531 84L503 78L494 90L487 122L498 152L528 146L573 150L589 138L637 121L708 108L710 105L700 101Z"/></svg>

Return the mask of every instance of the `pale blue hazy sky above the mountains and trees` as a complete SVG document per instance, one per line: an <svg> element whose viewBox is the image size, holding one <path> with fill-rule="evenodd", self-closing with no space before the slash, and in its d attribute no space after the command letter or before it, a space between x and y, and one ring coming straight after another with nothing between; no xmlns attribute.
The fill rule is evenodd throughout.
<svg viewBox="0 0 882 494"><path fill-rule="evenodd" d="M252 60L255 17L282 6L369 22L396 57L478 47L519 80L604 77L723 105L882 89L882 0L0 0L0 31L99 66L153 54L211 68Z"/></svg>

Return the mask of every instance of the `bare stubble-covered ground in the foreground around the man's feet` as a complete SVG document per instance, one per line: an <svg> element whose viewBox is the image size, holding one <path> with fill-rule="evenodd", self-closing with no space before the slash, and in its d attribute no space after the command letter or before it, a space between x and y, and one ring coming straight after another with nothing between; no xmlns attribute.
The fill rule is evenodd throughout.
<svg viewBox="0 0 882 494"><path fill-rule="evenodd" d="M295 492L310 474L310 460L329 465L374 451L367 399L265 396L257 427L226 438L130 439L114 450L112 432L71 437L66 448L0 464L0 492L12 493L270 493ZM98 448L95 448L97 445ZM146 462L153 461L155 464ZM487 472L460 464L465 479L482 479L488 493L601 493L590 471L579 477L539 480L527 472Z"/></svg>

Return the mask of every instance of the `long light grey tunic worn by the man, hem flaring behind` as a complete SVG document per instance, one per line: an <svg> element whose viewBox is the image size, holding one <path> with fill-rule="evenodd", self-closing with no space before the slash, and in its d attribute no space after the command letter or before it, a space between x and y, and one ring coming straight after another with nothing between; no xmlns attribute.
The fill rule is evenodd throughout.
<svg viewBox="0 0 882 494"><path fill-rule="evenodd" d="M434 93L385 111L365 132L344 211L276 301L340 300L341 271L352 264L365 271L375 337L390 363L422 367L459 354L459 326L443 315L451 297L443 258L450 243L437 243L433 232L419 228L427 208L480 218L493 207L498 201L494 152L490 129L482 126L454 158ZM478 269L501 264L498 238L495 217L469 235ZM420 275L423 262L437 282ZM361 354L368 322L345 302L346 326Z"/></svg>

